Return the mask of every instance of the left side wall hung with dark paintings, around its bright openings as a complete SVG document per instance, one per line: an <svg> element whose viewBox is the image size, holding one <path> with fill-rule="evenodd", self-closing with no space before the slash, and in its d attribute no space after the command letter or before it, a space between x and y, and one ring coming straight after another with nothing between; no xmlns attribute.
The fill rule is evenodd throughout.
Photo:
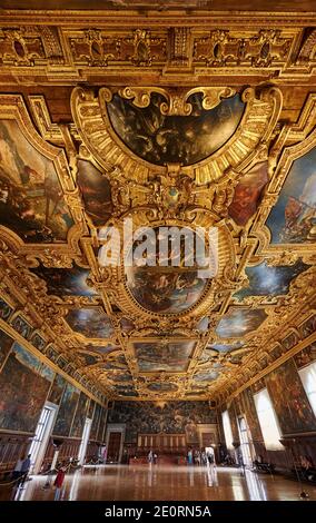
<svg viewBox="0 0 316 523"><path fill-rule="evenodd" d="M11 314L12 309L0 298L2 325ZM21 336L26 339L31 337L31 326L21 316L16 316L10 329L6 330L4 326L0 328L0 474L12 470L17 458L27 453L47 401L58 406L58 413L43 460L45 467L53 456L53 440L63 442L61 460L78 456L87 416L92 418L88 457L96 455L98 444L105 437L106 408L79 385L77 387L59 374L56 367L43 363L40 354L36 356L29 349L30 343L21 342ZM37 338L31 338L32 345L38 345L43 352L39 337L37 333Z"/></svg>

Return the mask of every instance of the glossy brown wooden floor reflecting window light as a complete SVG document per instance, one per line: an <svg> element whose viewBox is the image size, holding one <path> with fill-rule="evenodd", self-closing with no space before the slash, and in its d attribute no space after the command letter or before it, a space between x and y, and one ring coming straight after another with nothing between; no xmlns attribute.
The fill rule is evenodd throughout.
<svg viewBox="0 0 316 523"><path fill-rule="evenodd" d="M46 476L32 476L22 491L0 486L0 500L53 500L55 490L43 489ZM316 500L316 486L283 475L256 474L237 468L168 465L85 466L66 476L65 500L90 501L286 501L299 500L304 489Z"/></svg>

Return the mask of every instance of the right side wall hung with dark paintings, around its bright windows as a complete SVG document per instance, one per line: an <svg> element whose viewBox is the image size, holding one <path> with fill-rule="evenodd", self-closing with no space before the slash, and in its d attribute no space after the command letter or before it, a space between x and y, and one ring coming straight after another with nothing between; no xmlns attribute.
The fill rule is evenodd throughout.
<svg viewBox="0 0 316 523"><path fill-rule="evenodd" d="M315 323L313 325L315 327ZM309 456L316 466L316 417L298 374L299 368L315 359L316 343L310 343L221 406L220 412L228 408L237 445L237 417L245 415L257 455L263 455L265 461L273 462L280 470L293 468L294 462L298 464L299 457L304 455ZM254 402L254 394L263 388L268 389L277 416L284 443L284 450L280 451L267 451L264 443Z"/></svg>

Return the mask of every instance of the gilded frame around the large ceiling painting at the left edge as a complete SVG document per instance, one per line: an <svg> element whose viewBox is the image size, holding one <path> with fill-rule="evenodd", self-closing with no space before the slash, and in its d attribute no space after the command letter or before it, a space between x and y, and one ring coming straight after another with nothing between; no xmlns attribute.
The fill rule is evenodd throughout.
<svg viewBox="0 0 316 523"><path fill-rule="evenodd" d="M0 95L0 120L16 121L27 141L52 162L65 201L75 223L65 243L27 244L4 226L0 226L0 238L14 253L24 256L30 266L37 266L39 260L47 267L69 267L73 259L80 264L81 254L78 243L80 236L87 233L87 228L81 213L79 193L73 184L65 151L45 141L37 132L21 95Z"/></svg>

